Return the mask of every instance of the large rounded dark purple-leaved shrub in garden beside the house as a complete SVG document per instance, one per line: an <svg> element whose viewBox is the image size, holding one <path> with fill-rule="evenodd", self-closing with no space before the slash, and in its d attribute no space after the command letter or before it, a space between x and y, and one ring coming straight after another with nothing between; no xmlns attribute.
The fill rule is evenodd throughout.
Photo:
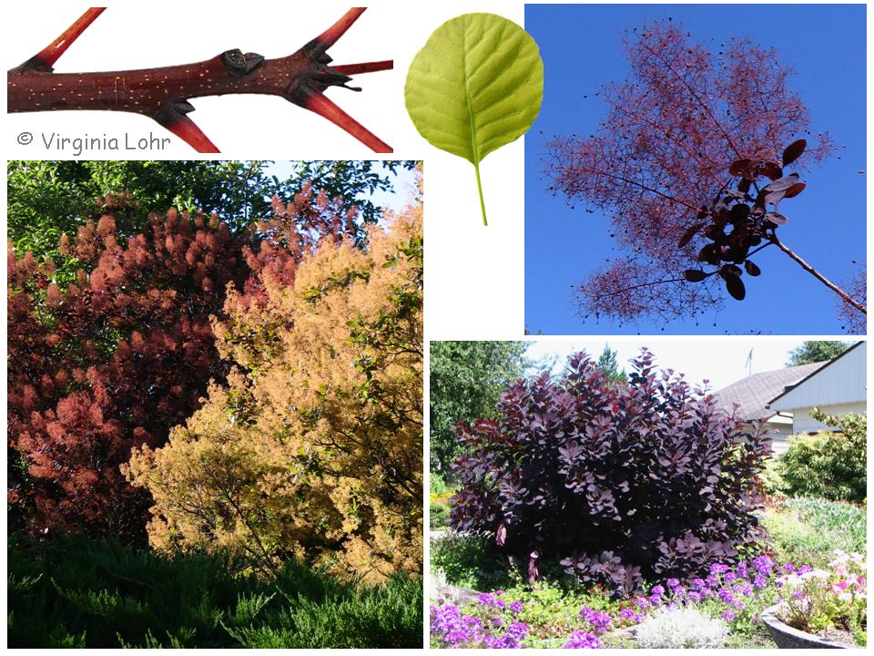
<svg viewBox="0 0 874 656"><path fill-rule="evenodd" d="M716 407L706 389L657 372L644 349L627 384L584 353L563 375L504 392L496 420L459 425L452 527L494 537L527 560L561 559L586 584L632 593L646 578L690 577L733 562L763 537L757 474L762 422Z"/></svg>

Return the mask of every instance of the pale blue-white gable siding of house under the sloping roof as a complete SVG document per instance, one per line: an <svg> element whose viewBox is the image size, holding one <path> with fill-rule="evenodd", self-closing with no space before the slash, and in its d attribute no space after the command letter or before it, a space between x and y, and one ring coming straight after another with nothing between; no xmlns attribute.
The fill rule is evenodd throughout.
<svg viewBox="0 0 874 656"><path fill-rule="evenodd" d="M791 412L828 406L862 406L866 398L865 363L868 357L868 343L860 343L849 353L824 366L807 380L801 382L785 395L780 396L769 408L774 411ZM795 427L795 431L807 430ZM815 428L813 430L816 430Z"/></svg>

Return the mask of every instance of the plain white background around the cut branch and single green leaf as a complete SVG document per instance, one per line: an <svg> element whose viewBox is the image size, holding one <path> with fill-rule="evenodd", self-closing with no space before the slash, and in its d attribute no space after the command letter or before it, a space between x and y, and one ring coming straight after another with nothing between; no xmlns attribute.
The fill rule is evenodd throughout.
<svg viewBox="0 0 874 656"><path fill-rule="evenodd" d="M229 48L267 57L289 55L318 36L349 4L109 3L56 63L58 72L158 67L201 61ZM77 3L5 6L4 63L21 64L50 43L86 9ZM356 76L361 93L327 95L393 148L395 159L425 161L426 336L434 339L512 339L523 334L523 141L483 160L489 226L483 227L473 166L434 149L412 125L403 83L412 57L432 31L455 15L491 11L523 24L523 4L509 2L372 2L332 46L336 64L394 59L394 70ZM222 150L222 159L378 159L324 118L280 97L194 98L189 116ZM29 130L27 147L15 140ZM7 159L73 159L49 151L40 133L172 137L150 118L117 112L43 112L6 117ZM91 159L196 159L173 138L163 152L86 153Z"/></svg>

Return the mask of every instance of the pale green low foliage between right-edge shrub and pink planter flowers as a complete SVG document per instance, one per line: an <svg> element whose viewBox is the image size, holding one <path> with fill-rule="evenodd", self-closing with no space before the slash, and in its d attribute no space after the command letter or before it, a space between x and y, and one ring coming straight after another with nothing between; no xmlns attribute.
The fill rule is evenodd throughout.
<svg viewBox="0 0 874 656"><path fill-rule="evenodd" d="M865 510L849 503L787 499L768 509L763 524L780 559L797 564L823 567L835 549L866 552Z"/></svg>

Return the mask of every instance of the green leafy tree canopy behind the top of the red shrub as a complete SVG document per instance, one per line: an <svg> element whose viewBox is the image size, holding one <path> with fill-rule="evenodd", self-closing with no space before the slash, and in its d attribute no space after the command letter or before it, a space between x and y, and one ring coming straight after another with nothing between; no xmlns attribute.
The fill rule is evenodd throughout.
<svg viewBox="0 0 874 656"><path fill-rule="evenodd" d="M381 208L367 197L391 190L391 173L412 161L293 162L288 179L269 175L270 162L174 160L10 161L7 168L7 237L15 250L37 260L56 256L62 234L73 236L87 220L112 213L127 237L142 231L153 212L217 212L232 234L269 216L273 197L284 202L308 180L330 199L358 207L362 223L376 222ZM107 198L117 204L107 205ZM124 203L118 203L124 199Z"/></svg>

